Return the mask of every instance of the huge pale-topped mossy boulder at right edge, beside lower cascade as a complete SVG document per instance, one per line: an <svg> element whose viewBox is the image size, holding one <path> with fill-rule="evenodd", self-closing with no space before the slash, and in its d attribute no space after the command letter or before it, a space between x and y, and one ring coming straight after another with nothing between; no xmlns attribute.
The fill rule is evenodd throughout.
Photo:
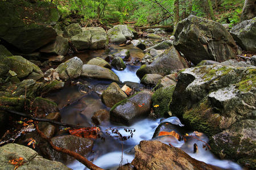
<svg viewBox="0 0 256 170"><path fill-rule="evenodd" d="M255 73L255 67L221 65L185 69L177 77L170 110L209 137L237 121L254 119Z"/></svg>

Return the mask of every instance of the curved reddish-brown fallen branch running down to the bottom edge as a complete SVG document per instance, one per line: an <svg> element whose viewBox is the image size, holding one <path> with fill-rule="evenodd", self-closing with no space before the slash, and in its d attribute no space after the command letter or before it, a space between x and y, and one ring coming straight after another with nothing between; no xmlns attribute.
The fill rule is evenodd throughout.
<svg viewBox="0 0 256 170"><path fill-rule="evenodd" d="M61 147L57 147L57 146L53 145L52 140L50 138L47 138L46 135L44 135L44 133L39 130L38 125L36 125L36 131L38 131L38 133L40 134L40 136L42 138L46 139L46 141L49 143L49 145L51 145L53 150L56 150L58 152L63 152L64 154L72 156L73 158L77 159L79 162L84 164L89 169L92 169L92 170L104 170L104 169L98 167L97 165L94 165L92 162L90 162L89 160L84 158L84 156L81 156L80 154L77 154L76 152L73 152L71 150L68 150L68 149L65 149L65 148L61 148Z"/></svg>

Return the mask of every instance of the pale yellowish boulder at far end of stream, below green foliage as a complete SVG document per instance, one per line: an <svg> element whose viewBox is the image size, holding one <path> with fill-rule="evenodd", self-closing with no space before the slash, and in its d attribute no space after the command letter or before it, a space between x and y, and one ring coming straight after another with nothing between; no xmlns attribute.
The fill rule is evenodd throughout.
<svg viewBox="0 0 256 170"><path fill-rule="evenodd" d="M134 37L133 31L127 25L115 25L109 29L108 36L110 42L114 44L123 44L126 42L126 39L132 39Z"/></svg>

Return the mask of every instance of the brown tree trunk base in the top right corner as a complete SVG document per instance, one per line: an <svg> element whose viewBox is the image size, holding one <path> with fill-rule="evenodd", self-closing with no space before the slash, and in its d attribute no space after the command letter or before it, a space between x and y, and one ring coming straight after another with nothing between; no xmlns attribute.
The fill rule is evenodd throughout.
<svg viewBox="0 0 256 170"><path fill-rule="evenodd" d="M256 16L255 8L256 8L256 5L254 0L246 0L245 4L243 5L243 11L240 18L241 22L243 20L254 18Z"/></svg>

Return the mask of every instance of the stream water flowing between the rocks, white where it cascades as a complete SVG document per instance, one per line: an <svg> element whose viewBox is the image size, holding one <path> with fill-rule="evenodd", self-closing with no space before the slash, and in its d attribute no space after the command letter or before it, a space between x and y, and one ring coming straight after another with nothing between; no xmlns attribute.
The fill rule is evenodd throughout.
<svg viewBox="0 0 256 170"><path fill-rule="evenodd" d="M134 47L132 44L126 45L124 47L119 47L117 45L110 46L110 54L113 54L121 49L130 50L131 60L126 62L127 67L123 71L117 71L112 69L115 74L119 76L120 81L125 84L127 82L138 84L143 88L142 84L139 84L140 80L136 75L136 71L139 69L139 65L134 65L134 61L137 58L143 58L144 53L141 49ZM90 52L82 52L76 55L84 63L88 62L89 59L94 57L104 58L108 56L105 54L105 50L96 50ZM69 56L66 59L72 58ZM66 83L65 87L48 96L48 99L55 101L58 104L61 113L61 121L68 124L77 124L81 126L92 126L91 117L93 113L100 110L110 108L106 107L101 101L101 94L109 84L112 83L108 80L96 80L89 78L79 78L72 83ZM85 86L86 85L86 86ZM122 85L121 85L122 86ZM89 87L89 88L88 88ZM84 91L84 92L82 92ZM85 93L86 92L86 93ZM160 124L163 122L164 118L158 118L156 120L150 118L143 118L137 120L131 126L123 126L112 124L111 122L106 122L101 124L99 127L101 129L101 136L105 138L105 141L102 139L96 139L94 141L93 152L86 156L88 160L92 161L97 166L104 169L117 169L121 162L121 155L123 150L123 159L122 164L131 163L134 159L134 149L135 145L138 145L140 141L151 140L152 136ZM166 120L179 121L176 117L168 118ZM182 123L182 122L181 122ZM118 138L112 137L111 135L106 134L106 129L110 127L123 127L123 128L134 128L135 132L133 138L127 139L126 141L120 141ZM174 131L184 135L185 133L191 135L193 131L185 129L183 126L174 125ZM129 135L125 130L120 129L119 133L123 136ZM200 140L208 142L206 135L201 135ZM231 162L229 160L220 160L217 159L209 150L203 148L203 143L197 141L196 139L189 140L184 143L184 141L178 141L172 136L162 136L157 137L154 140L161 141L163 143L171 143L175 147L181 148L181 150L187 152L192 158L203 161L208 164L216 165L224 169L242 169L240 165ZM197 144L198 150L193 153L193 145ZM122 149L123 147L123 149ZM86 169L86 167L74 161L72 163L67 163L67 166L72 169L80 170Z"/></svg>

